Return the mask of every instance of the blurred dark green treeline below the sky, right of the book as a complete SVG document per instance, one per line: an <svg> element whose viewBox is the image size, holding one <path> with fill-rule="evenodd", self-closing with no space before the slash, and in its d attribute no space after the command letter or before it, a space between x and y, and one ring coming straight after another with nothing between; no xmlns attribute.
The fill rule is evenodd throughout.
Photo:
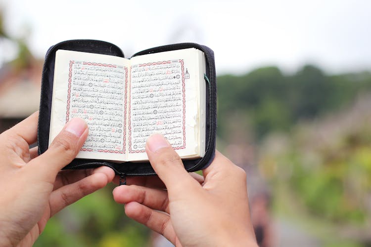
<svg viewBox="0 0 371 247"><path fill-rule="evenodd" d="M303 119L313 119L349 104L371 88L368 72L326 76L306 65L294 75L277 67L242 76L218 77L218 135L227 138L230 116L247 118L257 140L272 131L287 131ZM244 115L244 116L241 116Z"/></svg>

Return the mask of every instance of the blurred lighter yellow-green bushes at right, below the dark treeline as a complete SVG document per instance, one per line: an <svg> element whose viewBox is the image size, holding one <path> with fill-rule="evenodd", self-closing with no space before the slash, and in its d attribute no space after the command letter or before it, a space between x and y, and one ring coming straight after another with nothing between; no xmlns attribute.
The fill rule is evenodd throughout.
<svg viewBox="0 0 371 247"><path fill-rule="evenodd" d="M315 232L323 232L316 227L325 225L325 242L371 243L371 110L365 110L370 104L369 97L326 120L298 124L284 141L266 139L261 150L259 166L273 188L276 206L299 221L316 219ZM279 151L272 148L277 145ZM346 237L334 239L338 232Z"/></svg>

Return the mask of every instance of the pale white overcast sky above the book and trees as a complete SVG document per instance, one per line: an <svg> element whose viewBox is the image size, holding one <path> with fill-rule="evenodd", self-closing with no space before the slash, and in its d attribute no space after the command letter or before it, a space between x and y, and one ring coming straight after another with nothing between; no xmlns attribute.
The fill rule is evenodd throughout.
<svg viewBox="0 0 371 247"><path fill-rule="evenodd" d="M0 0L0 9L10 35L31 31L38 57L69 39L109 41L127 57L194 41L214 50L218 74L308 62L330 73L371 67L370 0ZM11 54L0 43L0 63Z"/></svg>

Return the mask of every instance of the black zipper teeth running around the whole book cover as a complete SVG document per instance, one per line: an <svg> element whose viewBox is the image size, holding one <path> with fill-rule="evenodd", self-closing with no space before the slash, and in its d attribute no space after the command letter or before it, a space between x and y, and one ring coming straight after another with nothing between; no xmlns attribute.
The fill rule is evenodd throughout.
<svg viewBox="0 0 371 247"><path fill-rule="evenodd" d="M45 73L45 70L46 70L46 61L49 59L49 55L50 53L52 52L52 50L58 46L58 45L61 45L63 43L66 43L66 42L71 42L71 41L77 41L77 40L68 40L68 41L62 41L62 42L59 42L57 44L54 44L52 45L46 52L46 59L45 59L45 62L44 62L44 65L43 65L43 76L41 78L41 100L40 100L40 107L39 109L41 109L41 106L42 106L42 96L43 96L43 83L44 83L44 73ZM90 41L90 40L78 40L78 41ZM94 41L94 40L92 40ZM94 41L94 42L97 42L97 41ZM100 42L104 42L104 41L100 41ZM105 42L106 43L106 42ZM213 114L213 99L214 99L214 94L213 94L213 85L212 85L212 82L214 82L214 72L213 72L213 69L212 67L210 67L210 64L212 64L212 60L210 58L210 55L208 53L208 51L204 48L203 45L200 45L200 44L197 44L197 43L192 43L192 42L187 42L187 43L177 43L177 44L168 44L168 45L161 45L161 46L157 46L157 47L154 47L154 48L150 48L150 49L146 49L146 50L143 50L143 51L140 51L140 52L137 52L135 53L132 57L136 56L137 54L140 54L140 53L146 53L148 51L151 51L151 50L155 50L155 49L162 49L162 48L170 48L170 47L177 47L177 46L180 46L180 45L191 45L191 46L196 46L198 48L200 48L205 56L206 56L206 60L209 64L209 80L210 80L210 83L209 83L209 114L211 115L210 117L212 118ZM39 119L38 119L38 133L37 133L37 142L38 142L38 145L40 143L40 132L39 132L39 128L40 127L40 114L39 114ZM213 124L213 121L210 121L210 131L209 131L209 134L208 134L208 143L206 145L206 150L205 150L205 153L207 153L209 150L210 150L210 145L211 145L211 138L212 138L212 133L213 133L213 129L214 129L214 124ZM39 155L41 155L41 150L40 148L38 149L38 153ZM202 164L204 162L204 160L206 159L206 157L204 156L198 163L196 163L195 165L189 167L189 168L186 168L187 171L189 170L192 170L194 168L196 168L197 166L199 166L200 164ZM132 176L144 176L144 175L156 175L155 172L149 172L149 173L125 173L125 172L120 172L118 171L114 166L112 165L109 165L109 163L99 163L99 162L91 162L91 163L84 163L84 164L79 164L79 165L73 165L69 168L77 168L77 167L80 167L80 166L86 166L86 165L105 165L105 166L108 166L110 168L112 168L116 174L126 174L126 175L132 175Z"/></svg>

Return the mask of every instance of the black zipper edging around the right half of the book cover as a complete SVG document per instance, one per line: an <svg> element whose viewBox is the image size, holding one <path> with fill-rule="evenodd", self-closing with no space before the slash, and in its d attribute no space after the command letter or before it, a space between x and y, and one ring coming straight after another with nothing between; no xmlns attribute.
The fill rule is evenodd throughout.
<svg viewBox="0 0 371 247"><path fill-rule="evenodd" d="M209 97L210 131L209 131L209 134L208 134L209 139L208 139L208 142L206 143L206 150L205 150L205 154L209 154L208 151L211 148L213 131L214 131L214 128L216 127L216 126L214 126L214 123L212 121L215 118L215 115L214 115L214 112L213 112L214 70L211 66L211 64L213 64L213 60L210 57L209 51L203 45L200 45L200 44L197 44L197 43L192 43L192 42L186 42L186 43L161 45L161 46L153 47L153 48L150 48L150 49L145 49L145 50L142 50L140 52L135 53L132 57L137 56L137 55L142 55L142 54L144 55L144 54L147 54L147 53L155 53L154 52L155 50L161 50L161 49L164 49L164 50L171 50L171 48L183 49L184 46L192 46L193 48L197 48L197 49L203 51L203 53L205 54L207 63L209 64L209 68L208 68L209 69L209 78L208 78L208 80L206 80L207 77L205 77L205 81L208 82L208 84L209 84L209 95L210 95L210 97ZM211 153L207 157L206 156L202 157L199 162L197 162L195 165L193 165L191 167L186 168L186 170L189 171L189 170L196 169L198 166L202 165L205 160L209 160L210 158L211 158ZM154 174L156 174L156 173L154 173ZM127 175L144 175L144 174L128 173ZM151 174L147 174L147 175L151 175Z"/></svg>

